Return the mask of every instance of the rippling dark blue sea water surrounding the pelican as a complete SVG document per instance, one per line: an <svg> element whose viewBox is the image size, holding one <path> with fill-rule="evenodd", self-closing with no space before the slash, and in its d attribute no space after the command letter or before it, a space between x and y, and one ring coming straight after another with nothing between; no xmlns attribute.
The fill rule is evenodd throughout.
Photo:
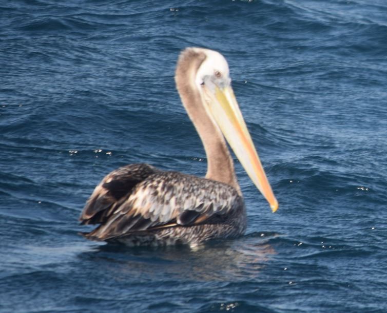
<svg viewBox="0 0 387 313"><path fill-rule="evenodd" d="M204 175L173 81L189 46L227 58L278 212L237 163L245 236L87 241L111 170ZM387 311L386 106L382 0L1 1L0 310Z"/></svg>

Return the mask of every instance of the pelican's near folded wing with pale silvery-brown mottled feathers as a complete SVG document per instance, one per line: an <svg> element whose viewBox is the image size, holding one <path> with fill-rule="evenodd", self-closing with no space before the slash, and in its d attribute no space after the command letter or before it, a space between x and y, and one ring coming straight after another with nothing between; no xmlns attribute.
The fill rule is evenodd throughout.
<svg viewBox="0 0 387 313"><path fill-rule="evenodd" d="M86 236L107 240L165 227L221 223L241 206L242 197L227 184L160 171L111 206L102 224Z"/></svg>

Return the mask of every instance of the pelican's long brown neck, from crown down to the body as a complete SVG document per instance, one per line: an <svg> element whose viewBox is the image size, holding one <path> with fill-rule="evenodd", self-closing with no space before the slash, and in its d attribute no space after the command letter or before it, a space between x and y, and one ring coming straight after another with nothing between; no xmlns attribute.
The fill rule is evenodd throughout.
<svg viewBox="0 0 387 313"><path fill-rule="evenodd" d="M207 156L206 178L229 184L240 193L234 162L219 127L208 116L196 87L196 74L205 60L201 51L186 49L179 57L176 68L176 86L183 105L202 139Z"/></svg>

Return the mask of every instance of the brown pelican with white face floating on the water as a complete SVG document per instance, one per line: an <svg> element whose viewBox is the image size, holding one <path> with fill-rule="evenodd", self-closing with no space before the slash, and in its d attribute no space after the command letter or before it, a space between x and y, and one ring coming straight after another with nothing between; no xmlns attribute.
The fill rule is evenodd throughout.
<svg viewBox="0 0 387 313"><path fill-rule="evenodd" d="M272 211L278 202L248 133L219 52L187 48L175 75L183 106L203 142L205 178L129 164L95 187L80 217L83 235L130 246L199 245L244 234L246 208L226 141Z"/></svg>

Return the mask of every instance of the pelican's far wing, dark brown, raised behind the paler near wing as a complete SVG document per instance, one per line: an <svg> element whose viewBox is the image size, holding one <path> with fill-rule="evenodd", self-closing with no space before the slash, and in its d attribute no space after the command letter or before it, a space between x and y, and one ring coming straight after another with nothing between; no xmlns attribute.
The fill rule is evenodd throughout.
<svg viewBox="0 0 387 313"><path fill-rule="evenodd" d="M129 164L106 175L95 187L80 216L81 224L99 224L131 194L134 186L158 172L148 164Z"/></svg>

